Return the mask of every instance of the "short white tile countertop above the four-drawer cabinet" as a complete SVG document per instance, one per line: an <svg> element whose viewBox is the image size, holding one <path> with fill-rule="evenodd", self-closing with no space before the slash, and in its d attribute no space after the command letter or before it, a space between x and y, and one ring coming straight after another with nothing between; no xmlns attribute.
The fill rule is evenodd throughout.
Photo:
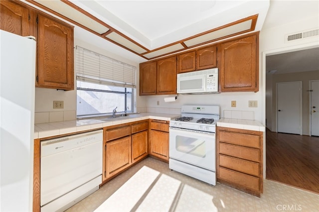
<svg viewBox="0 0 319 212"><path fill-rule="evenodd" d="M235 118L221 118L217 121L217 126L231 127L236 129L248 129L265 132L266 128L259 121L244 120Z"/></svg>

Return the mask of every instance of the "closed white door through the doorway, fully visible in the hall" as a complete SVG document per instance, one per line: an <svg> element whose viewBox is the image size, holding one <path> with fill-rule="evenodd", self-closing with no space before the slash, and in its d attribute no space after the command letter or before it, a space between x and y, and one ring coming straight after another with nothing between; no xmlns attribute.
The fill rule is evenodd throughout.
<svg viewBox="0 0 319 212"><path fill-rule="evenodd" d="M277 83L278 132L302 134L302 82Z"/></svg>

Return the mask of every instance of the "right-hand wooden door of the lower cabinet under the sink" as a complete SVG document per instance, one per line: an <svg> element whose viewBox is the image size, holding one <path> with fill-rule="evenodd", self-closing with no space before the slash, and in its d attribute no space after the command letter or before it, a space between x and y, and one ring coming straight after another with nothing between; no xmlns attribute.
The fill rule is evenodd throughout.
<svg viewBox="0 0 319 212"><path fill-rule="evenodd" d="M132 135L132 163L135 163L148 155L148 131L138 132Z"/></svg>

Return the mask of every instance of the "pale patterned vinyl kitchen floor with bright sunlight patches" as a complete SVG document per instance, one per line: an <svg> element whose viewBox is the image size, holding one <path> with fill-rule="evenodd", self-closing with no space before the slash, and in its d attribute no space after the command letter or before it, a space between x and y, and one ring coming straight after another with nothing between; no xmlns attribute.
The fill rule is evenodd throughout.
<svg viewBox="0 0 319 212"><path fill-rule="evenodd" d="M149 181L151 183L147 184ZM318 212L319 195L264 180L264 193L257 198L219 183L212 186L201 182L170 170L167 163L148 157L67 212L93 212L96 209L121 212Z"/></svg>

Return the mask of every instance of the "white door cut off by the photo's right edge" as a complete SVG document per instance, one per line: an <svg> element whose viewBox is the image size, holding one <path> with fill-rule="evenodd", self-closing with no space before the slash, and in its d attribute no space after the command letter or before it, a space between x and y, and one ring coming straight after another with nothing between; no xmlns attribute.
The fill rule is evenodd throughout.
<svg viewBox="0 0 319 212"><path fill-rule="evenodd" d="M319 80L310 82L311 135L319 136Z"/></svg>

